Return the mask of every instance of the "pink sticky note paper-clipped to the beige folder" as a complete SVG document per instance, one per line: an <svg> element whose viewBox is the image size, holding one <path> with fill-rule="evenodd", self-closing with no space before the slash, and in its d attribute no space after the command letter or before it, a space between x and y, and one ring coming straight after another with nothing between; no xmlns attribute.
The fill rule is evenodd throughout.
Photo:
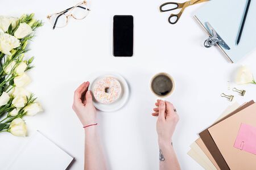
<svg viewBox="0 0 256 170"><path fill-rule="evenodd" d="M256 128L241 124L234 147L256 155Z"/></svg>

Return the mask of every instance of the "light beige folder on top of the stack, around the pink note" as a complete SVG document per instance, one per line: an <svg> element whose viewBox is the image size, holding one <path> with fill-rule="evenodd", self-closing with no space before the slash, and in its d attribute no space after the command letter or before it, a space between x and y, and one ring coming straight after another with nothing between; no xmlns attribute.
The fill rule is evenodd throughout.
<svg viewBox="0 0 256 170"><path fill-rule="evenodd" d="M210 127L208 131L230 169L256 169L256 155L234 148L241 123L256 127L256 103Z"/></svg>

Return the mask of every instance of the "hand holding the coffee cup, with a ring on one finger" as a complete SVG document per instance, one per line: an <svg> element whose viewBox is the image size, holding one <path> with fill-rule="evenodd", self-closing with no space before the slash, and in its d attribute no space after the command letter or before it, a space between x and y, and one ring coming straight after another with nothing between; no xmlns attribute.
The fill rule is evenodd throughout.
<svg viewBox="0 0 256 170"><path fill-rule="evenodd" d="M152 116L158 116L156 122L156 131L158 133L158 143L171 143L172 135L174 134L177 122L179 122L179 116L169 101L157 100L155 103L156 108L153 110Z"/></svg>

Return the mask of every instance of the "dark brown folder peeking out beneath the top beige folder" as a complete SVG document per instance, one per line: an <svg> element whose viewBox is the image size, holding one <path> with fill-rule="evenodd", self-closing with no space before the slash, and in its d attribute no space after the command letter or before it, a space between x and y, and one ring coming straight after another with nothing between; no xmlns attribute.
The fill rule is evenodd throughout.
<svg viewBox="0 0 256 170"><path fill-rule="evenodd" d="M214 126L214 125L218 124L219 122L225 120L226 118L242 111L243 109L249 107L251 104L254 104L253 100L251 100L248 103L242 105L240 108L236 109L236 111L233 111L232 113L228 114L224 118L221 118L221 120L215 122L212 126ZM212 126L210 126L210 127L212 127ZM214 160L218 164L218 167L220 167L220 169L222 169L222 170L229 170L228 164L226 163L225 159L223 158L220 150L218 149L218 147L217 147L216 143L214 142L212 136L210 135L208 129L205 129L199 135L200 135L201 139L203 140L205 146L208 148L210 154L212 155L212 157L214 158Z"/></svg>

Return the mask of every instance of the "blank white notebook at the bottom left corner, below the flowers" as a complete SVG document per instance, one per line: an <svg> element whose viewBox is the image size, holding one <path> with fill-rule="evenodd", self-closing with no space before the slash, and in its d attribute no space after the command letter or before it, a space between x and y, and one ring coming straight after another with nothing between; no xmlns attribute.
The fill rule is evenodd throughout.
<svg viewBox="0 0 256 170"><path fill-rule="evenodd" d="M63 170L75 160L40 131L32 135L27 145L9 165L8 170Z"/></svg>

